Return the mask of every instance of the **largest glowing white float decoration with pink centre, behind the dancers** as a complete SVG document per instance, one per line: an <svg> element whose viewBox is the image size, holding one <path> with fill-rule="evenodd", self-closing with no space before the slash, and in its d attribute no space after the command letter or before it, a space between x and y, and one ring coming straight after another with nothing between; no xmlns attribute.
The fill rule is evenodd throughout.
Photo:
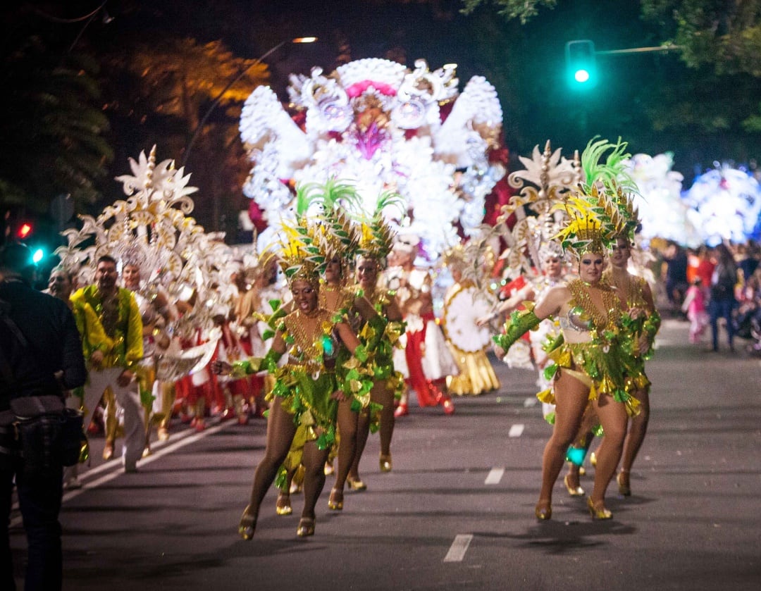
<svg viewBox="0 0 761 591"><path fill-rule="evenodd" d="M291 75L289 111L269 87L257 87L240 118L253 168L244 193L256 202L272 243L282 216L293 215L296 183L329 179L358 188L365 211L391 190L406 216L389 222L417 234L428 259L470 236L484 217L486 196L505 175L498 152L502 110L485 78L457 89L455 66L415 69L361 59L325 75Z"/></svg>

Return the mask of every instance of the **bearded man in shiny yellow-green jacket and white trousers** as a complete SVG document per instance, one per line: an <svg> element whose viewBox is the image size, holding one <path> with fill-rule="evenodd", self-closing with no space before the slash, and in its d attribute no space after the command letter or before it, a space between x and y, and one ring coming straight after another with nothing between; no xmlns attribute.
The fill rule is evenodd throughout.
<svg viewBox="0 0 761 591"><path fill-rule="evenodd" d="M142 319L131 291L119 288L116 259L97 259L95 284L72 294L74 316L82 336L82 351L88 362L84 386L84 424L89 424L103 392L110 388L124 411L122 464L125 472L136 472L145 446L145 427L135 369L143 355ZM94 323L88 323L94 313Z"/></svg>

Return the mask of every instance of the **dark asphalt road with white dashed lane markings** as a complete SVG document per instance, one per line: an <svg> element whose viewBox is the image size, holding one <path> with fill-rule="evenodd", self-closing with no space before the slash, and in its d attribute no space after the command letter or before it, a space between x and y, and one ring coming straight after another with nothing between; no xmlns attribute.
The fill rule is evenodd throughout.
<svg viewBox="0 0 761 591"><path fill-rule="evenodd" d="M453 416L412 405L392 472L378 469L371 436L368 490L330 511L329 476L307 539L295 535L301 497L277 516L273 490L254 539L237 537L262 420L178 430L137 474L94 462L65 494L64 589L759 589L761 359L703 352L686 330L661 329L648 438L632 497L609 489L613 520L592 521L561 481L552 520L534 518L549 426L534 373L500 364L501 389L456 399ZM97 456L103 442L91 443ZM11 545L21 583L18 513Z"/></svg>

